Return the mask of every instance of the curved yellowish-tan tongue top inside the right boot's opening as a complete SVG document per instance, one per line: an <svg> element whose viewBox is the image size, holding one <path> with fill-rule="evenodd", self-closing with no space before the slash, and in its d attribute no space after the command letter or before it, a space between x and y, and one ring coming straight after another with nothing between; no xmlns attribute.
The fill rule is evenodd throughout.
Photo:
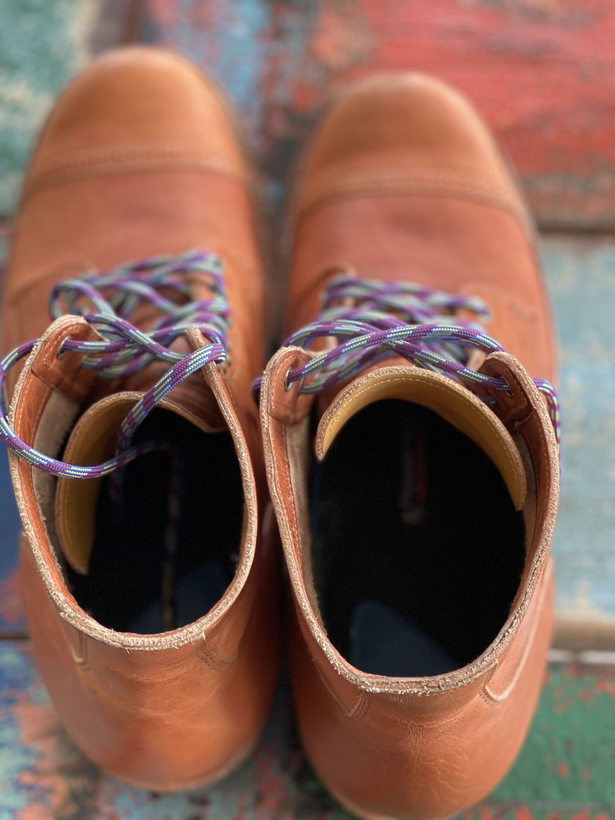
<svg viewBox="0 0 615 820"><path fill-rule="evenodd" d="M420 404L467 435L498 468L515 509L523 508L527 496L526 471L521 453L502 421L467 388L420 367L378 367L342 390L318 425L318 460L325 458L350 418L368 404L383 399Z"/></svg>

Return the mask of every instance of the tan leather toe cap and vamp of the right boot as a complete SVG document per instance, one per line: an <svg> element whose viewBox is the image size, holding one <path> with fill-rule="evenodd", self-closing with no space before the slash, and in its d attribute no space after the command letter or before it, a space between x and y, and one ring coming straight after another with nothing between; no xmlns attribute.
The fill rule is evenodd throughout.
<svg viewBox="0 0 615 820"><path fill-rule="evenodd" d="M289 332L317 313L331 272L349 266L485 298L486 332L532 376L553 379L521 196L485 125L438 80L379 75L339 100L299 164L289 226Z"/></svg>

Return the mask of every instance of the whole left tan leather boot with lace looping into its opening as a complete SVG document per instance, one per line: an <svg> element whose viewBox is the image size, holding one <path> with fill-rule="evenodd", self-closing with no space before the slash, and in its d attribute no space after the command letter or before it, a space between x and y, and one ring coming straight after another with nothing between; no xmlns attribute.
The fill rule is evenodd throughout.
<svg viewBox="0 0 615 820"><path fill-rule="evenodd" d="M203 75L111 53L48 119L8 266L4 349L40 338L2 419L34 653L84 753L157 790L244 758L276 681L252 186Z"/></svg>

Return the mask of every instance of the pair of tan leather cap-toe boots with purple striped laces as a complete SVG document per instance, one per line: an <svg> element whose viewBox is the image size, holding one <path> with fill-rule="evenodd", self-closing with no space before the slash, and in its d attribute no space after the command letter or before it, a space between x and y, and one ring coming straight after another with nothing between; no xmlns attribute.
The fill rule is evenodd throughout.
<svg viewBox="0 0 615 820"><path fill-rule="evenodd" d="M260 198L229 104L180 57L112 52L48 118L0 372L34 652L84 754L185 789L253 748L281 611L330 792L441 818L512 763L549 645L558 412L530 221L457 93L363 81L298 164L288 339L262 376Z"/></svg>

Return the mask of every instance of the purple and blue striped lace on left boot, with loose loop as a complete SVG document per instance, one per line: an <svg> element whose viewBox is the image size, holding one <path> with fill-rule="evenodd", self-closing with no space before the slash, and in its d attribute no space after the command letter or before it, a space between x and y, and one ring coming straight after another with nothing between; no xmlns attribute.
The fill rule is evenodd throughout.
<svg viewBox="0 0 615 820"><path fill-rule="evenodd" d="M202 280L211 298L194 301L190 281ZM170 298L170 297L174 298ZM149 305L162 315L147 330L129 321L135 308ZM7 419L2 386L16 362L27 356L39 339L21 344L0 362L0 439L25 462L69 478L98 478L122 467L139 455L157 449L154 442L130 446L134 430L176 385L208 362L225 366L229 307L225 298L223 263L213 253L193 250L180 256L157 256L94 271L79 279L64 280L49 299L52 320L68 314L83 317L100 337L90 341L67 338L58 355L82 353L80 367L96 371L102 379L125 379L153 361L169 369L139 399L122 421L116 454L93 467L79 467L39 453L25 444ZM175 353L171 344L189 327L197 327L209 344L187 355Z"/></svg>

